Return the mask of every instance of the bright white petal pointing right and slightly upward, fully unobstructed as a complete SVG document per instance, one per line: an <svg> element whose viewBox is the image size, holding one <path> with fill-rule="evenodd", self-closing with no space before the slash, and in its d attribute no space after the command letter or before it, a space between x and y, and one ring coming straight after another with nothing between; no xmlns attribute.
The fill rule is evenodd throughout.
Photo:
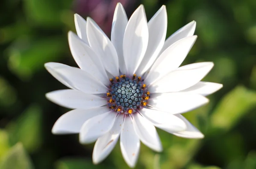
<svg viewBox="0 0 256 169"><path fill-rule="evenodd" d="M149 85L148 91L151 93L167 93L185 90L203 79L212 67L212 62L200 62L182 66Z"/></svg>

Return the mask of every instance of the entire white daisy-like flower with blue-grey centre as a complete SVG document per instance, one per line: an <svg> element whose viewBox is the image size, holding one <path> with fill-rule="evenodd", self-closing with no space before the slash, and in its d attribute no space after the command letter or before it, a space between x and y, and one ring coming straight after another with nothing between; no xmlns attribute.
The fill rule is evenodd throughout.
<svg viewBox="0 0 256 169"><path fill-rule="evenodd" d="M140 141L160 152L155 127L185 138L203 138L180 113L208 102L205 97L221 84L200 82L212 62L180 66L197 36L195 21L167 40L166 7L147 22L143 5L128 20L117 4L111 40L89 17L75 14L77 34L68 33L70 51L79 68L61 63L45 67L69 87L47 93L47 98L74 110L54 124L54 134L79 133L82 144L96 141L93 162L103 161L120 137L123 158L134 167Z"/></svg>

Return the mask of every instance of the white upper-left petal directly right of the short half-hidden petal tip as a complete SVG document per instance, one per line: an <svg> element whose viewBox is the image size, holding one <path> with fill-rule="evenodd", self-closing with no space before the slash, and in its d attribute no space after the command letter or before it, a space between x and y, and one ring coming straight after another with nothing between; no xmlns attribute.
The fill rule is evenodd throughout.
<svg viewBox="0 0 256 169"><path fill-rule="evenodd" d="M90 47L99 54L105 69L113 76L119 76L116 49L107 35L90 17L87 17L87 37Z"/></svg>

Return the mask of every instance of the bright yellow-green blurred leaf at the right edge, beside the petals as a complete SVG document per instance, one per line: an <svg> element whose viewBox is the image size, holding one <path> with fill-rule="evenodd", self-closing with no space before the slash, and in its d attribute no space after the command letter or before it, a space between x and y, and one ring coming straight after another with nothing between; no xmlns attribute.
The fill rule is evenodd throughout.
<svg viewBox="0 0 256 169"><path fill-rule="evenodd" d="M221 99L212 113L212 129L227 132L253 107L256 107L256 92L237 86Z"/></svg>

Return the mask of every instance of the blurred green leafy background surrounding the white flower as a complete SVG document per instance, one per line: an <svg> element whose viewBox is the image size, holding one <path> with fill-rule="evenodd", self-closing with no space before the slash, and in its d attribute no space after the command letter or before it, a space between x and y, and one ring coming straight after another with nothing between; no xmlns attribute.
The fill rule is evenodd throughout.
<svg viewBox="0 0 256 169"><path fill-rule="evenodd" d="M52 135L54 122L68 109L45 93L65 89L45 62L76 66L67 32L73 14L90 16L110 35L117 0L0 1L0 169L128 169L119 144L99 165L93 145L78 135ZM198 39L183 65L212 61L204 79L224 87L209 104L184 115L205 134L178 138L158 130L164 151L142 144L137 169L256 169L256 1L120 0L128 17L143 3L148 20L162 6L169 37L192 20ZM171 106L170 106L171 108Z"/></svg>

